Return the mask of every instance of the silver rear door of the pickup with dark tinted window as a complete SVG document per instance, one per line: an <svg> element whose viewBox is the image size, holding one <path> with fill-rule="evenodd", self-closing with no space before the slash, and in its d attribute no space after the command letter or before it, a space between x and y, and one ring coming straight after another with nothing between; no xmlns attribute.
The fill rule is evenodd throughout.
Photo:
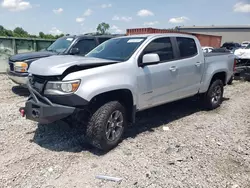
<svg viewBox="0 0 250 188"><path fill-rule="evenodd" d="M198 41L192 37L176 37L176 46L178 49L178 60L175 61L178 71L176 94L179 98L183 98L198 92L204 69L204 56L199 50Z"/></svg>

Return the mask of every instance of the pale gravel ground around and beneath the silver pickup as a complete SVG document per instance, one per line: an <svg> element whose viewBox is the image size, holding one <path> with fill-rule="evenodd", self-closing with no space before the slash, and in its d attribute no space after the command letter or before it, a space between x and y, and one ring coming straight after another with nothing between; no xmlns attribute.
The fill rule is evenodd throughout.
<svg viewBox="0 0 250 188"><path fill-rule="evenodd" d="M187 99L140 113L124 141L103 154L64 123L21 118L26 90L0 80L0 187L250 187L250 83L227 86L214 111Z"/></svg>

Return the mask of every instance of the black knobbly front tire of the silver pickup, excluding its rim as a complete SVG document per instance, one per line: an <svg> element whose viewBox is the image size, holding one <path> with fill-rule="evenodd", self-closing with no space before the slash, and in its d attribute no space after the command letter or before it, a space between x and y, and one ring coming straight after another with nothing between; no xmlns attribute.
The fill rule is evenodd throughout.
<svg viewBox="0 0 250 188"><path fill-rule="evenodd" d="M113 112L119 110L123 116L123 129L119 138L111 142L106 137L106 126L109 117ZM126 109L118 101L110 101L99 107L90 117L86 128L86 141L92 146L102 150L109 151L115 148L123 137L124 130L127 126Z"/></svg>

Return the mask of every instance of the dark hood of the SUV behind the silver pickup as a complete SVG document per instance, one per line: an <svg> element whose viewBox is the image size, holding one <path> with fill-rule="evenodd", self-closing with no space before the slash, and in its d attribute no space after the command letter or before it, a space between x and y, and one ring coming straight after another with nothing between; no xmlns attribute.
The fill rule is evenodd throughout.
<svg viewBox="0 0 250 188"><path fill-rule="evenodd" d="M36 59L42 57L48 57L51 55L55 55L56 53L48 52L48 51L39 51L39 52L26 52L21 54L16 54L10 57L11 61L24 61L29 59Z"/></svg>

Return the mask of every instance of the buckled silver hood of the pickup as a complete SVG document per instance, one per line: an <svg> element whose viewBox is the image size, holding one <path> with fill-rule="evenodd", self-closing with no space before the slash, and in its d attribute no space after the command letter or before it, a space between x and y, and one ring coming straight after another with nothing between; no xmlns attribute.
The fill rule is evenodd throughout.
<svg viewBox="0 0 250 188"><path fill-rule="evenodd" d="M57 76L62 75L64 71L72 66L88 68L113 63L117 63L117 61L75 55L57 55L34 61L30 65L28 72L41 76Z"/></svg>

